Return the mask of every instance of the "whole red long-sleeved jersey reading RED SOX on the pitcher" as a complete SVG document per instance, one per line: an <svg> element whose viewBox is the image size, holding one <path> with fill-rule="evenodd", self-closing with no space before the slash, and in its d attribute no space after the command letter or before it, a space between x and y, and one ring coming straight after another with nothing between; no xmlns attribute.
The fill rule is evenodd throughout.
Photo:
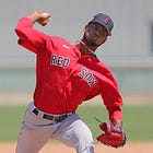
<svg viewBox="0 0 153 153"><path fill-rule="evenodd" d="M122 120L117 82L102 61L82 55L75 45L61 37L33 28L28 17L19 21L15 32L19 44L36 54L34 103L37 108L49 114L71 113L83 101L101 94L110 120Z"/></svg>

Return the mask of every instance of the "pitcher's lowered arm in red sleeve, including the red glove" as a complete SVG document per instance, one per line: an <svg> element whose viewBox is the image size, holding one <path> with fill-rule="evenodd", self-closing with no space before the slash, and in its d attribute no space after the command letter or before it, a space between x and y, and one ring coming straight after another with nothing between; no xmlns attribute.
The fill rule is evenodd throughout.
<svg viewBox="0 0 153 153"><path fill-rule="evenodd" d="M127 138L122 129L122 97L117 84L110 79L103 76L102 86L101 95L107 108L109 121L99 125L104 133L98 136L97 140L113 148L123 146Z"/></svg>

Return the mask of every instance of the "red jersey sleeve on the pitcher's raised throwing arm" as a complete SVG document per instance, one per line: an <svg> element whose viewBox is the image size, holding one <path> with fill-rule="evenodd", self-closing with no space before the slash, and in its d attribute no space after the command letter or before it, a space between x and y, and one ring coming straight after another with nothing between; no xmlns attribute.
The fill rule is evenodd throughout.
<svg viewBox="0 0 153 153"><path fill-rule="evenodd" d="M37 54L47 45L47 40L50 37L35 28L33 28L33 22L30 17L22 17L15 27L15 33L19 36L19 45ZM51 49L51 46L49 46Z"/></svg>

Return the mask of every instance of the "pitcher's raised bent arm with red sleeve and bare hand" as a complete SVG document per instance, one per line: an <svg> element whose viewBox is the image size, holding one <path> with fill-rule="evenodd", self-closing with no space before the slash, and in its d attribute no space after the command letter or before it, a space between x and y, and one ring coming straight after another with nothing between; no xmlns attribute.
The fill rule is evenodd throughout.
<svg viewBox="0 0 153 153"><path fill-rule="evenodd" d="M19 36L19 44L33 52L37 52L46 44L48 36L35 28L33 25L37 22L40 25L46 25L50 14L33 12L32 14L19 20L15 27L15 33Z"/></svg>

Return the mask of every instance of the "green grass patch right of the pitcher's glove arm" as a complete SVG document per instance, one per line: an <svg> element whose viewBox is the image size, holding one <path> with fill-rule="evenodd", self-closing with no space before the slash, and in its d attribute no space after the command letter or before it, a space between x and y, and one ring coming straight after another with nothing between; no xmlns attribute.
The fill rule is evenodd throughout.
<svg viewBox="0 0 153 153"><path fill-rule="evenodd" d="M153 105L123 108L123 120L130 141L153 141Z"/></svg>

